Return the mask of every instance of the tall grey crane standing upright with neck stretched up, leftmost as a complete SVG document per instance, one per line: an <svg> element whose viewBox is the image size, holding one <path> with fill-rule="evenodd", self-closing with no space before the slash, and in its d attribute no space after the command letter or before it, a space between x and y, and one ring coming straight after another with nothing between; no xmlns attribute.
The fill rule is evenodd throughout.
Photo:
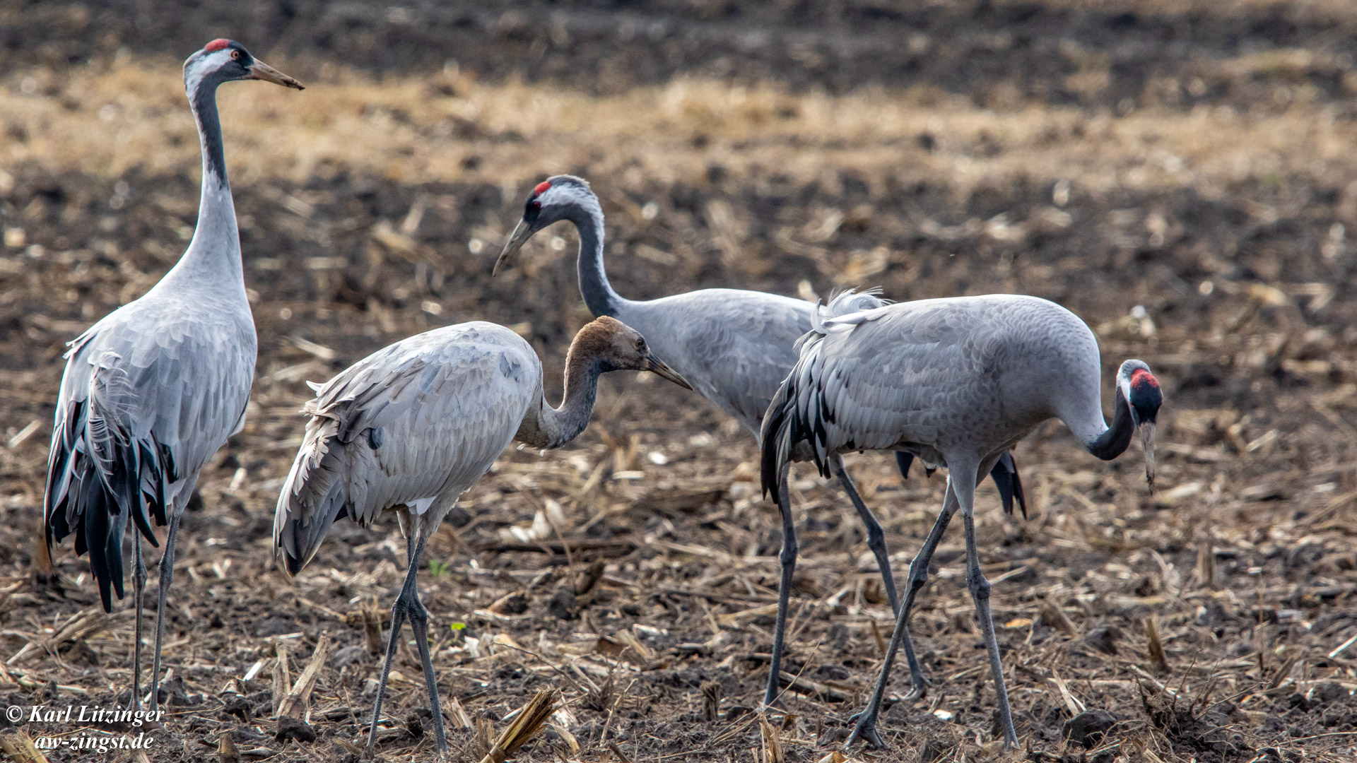
<svg viewBox="0 0 1357 763"><path fill-rule="evenodd" d="M160 559L160 601L151 679L159 703L166 593L174 580L179 517L198 471L244 425L255 367L255 329L240 265L240 235L227 183L217 86L301 83L256 60L239 42L213 39L183 64L189 107L202 143L198 227L159 284L71 342L61 377L43 524L50 546L75 531L76 554L104 611L123 595L122 542L130 519L137 625L132 707L140 702L141 610L147 581L141 536L159 546L151 519L170 529Z"/></svg>

